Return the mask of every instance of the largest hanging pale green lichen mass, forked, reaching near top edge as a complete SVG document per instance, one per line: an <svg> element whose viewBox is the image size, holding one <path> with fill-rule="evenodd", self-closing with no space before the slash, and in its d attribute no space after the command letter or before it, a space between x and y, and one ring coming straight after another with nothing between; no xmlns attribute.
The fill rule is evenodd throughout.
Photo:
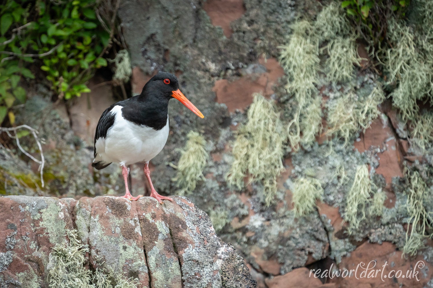
<svg viewBox="0 0 433 288"><path fill-rule="evenodd" d="M310 146L321 132L321 97L317 96L319 71L330 81L348 81L352 78L353 63L359 65L357 35L350 27L338 3L323 8L317 20L306 20L292 25L293 33L288 45L281 46L280 63L288 75L286 89L294 95L297 109L288 123L288 140L291 149L298 143ZM319 49L319 46L326 45ZM327 54L323 67L319 55ZM313 112L313 113L311 113ZM302 136L301 136L302 135Z"/></svg>

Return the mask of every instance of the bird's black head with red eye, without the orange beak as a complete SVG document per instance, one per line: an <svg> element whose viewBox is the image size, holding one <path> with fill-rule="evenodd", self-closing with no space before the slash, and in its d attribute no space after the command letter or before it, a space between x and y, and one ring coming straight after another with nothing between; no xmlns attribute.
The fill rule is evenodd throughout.
<svg viewBox="0 0 433 288"><path fill-rule="evenodd" d="M178 89L178 77L171 73L159 72L144 85L141 93L150 94L157 98L171 99L173 98L173 91Z"/></svg>

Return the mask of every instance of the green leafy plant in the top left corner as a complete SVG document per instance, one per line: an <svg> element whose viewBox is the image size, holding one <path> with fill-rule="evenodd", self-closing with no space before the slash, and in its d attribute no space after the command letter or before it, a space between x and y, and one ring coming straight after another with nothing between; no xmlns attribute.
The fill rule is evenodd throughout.
<svg viewBox="0 0 433 288"><path fill-rule="evenodd" d="M120 1L117 2L116 8L110 7L112 10L118 8ZM36 69L45 71L51 89L60 98L90 92L85 82L96 68L107 66L102 56L110 48L115 11L111 11L111 17L104 6L101 17L98 9L105 4L96 0L7 0L3 3L0 5L0 123L14 103L26 100L26 92L18 83L21 77L35 78L29 70L32 63ZM103 20L107 18L112 18L108 25L111 29Z"/></svg>

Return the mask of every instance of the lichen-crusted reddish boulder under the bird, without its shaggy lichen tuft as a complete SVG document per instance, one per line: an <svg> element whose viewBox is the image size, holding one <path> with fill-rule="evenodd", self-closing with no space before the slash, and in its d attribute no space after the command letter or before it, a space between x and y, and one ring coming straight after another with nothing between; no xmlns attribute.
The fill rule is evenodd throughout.
<svg viewBox="0 0 433 288"><path fill-rule="evenodd" d="M141 287L255 287L242 257L184 197L161 205L150 197L6 196L0 211L0 287L47 287L52 248L72 229L90 250L84 267L114 269Z"/></svg>

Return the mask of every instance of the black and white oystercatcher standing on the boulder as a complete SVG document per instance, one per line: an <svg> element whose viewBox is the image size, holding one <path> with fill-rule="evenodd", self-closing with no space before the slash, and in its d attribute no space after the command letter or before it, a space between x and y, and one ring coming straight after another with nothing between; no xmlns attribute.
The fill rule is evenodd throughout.
<svg viewBox="0 0 433 288"><path fill-rule="evenodd" d="M140 95L117 102L107 108L99 119L95 132L94 160L92 166L98 170L119 163L125 180L124 198L137 200L128 189L127 165L144 162L144 174L149 180L158 202L173 200L159 195L150 180L149 161L161 152L168 138L168 101L176 98L187 108L204 118L203 114L179 90L176 76L160 72L143 87Z"/></svg>

